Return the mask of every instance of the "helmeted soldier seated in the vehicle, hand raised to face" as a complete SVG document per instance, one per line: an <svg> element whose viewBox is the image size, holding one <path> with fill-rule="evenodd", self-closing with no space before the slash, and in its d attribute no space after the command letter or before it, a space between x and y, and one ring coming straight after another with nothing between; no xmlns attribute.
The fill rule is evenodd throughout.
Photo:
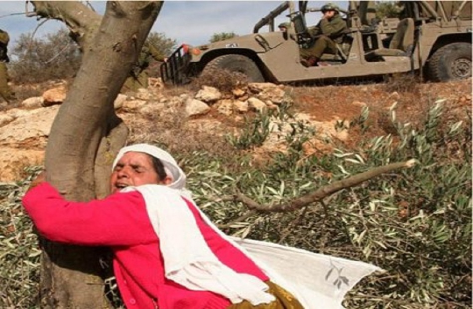
<svg viewBox="0 0 473 309"><path fill-rule="evenodd" d="M315 66L322 54L337 53L337 43L342 43L342 38L348 30L347 22L340 15L340 8L327 3L321 8L324 14L317 26L310 27L309 33L316 40L308 48L301 48L301 63L306 67Z"/></svg>

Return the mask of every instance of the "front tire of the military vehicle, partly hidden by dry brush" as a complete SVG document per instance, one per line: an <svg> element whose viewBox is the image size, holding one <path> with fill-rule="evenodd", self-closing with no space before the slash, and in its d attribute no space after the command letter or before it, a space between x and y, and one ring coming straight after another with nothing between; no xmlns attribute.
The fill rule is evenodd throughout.
<svg viewBox="0 0 473 309"><path fill-rule="evenodd" d="M248 82L262 83L264 82L263 74L259 70L256 63L250 58L243 55L222 55L211 60L204 68L205 71L214 69L226 69L230 72L239 72L248 77Z"/></svg>

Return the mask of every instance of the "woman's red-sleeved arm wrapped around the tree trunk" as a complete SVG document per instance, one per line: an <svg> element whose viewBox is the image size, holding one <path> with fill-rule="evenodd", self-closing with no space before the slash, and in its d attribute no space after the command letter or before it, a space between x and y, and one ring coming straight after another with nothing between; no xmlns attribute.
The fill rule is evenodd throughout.
<svg viewBox="0 0 473 309"><path fill-rule="evenodd" d="M32 183L22 202L39 233L52 241L129 246L157 239L144 199L137 191L73 202L64 199L48 182L38 181Z"/></svg>

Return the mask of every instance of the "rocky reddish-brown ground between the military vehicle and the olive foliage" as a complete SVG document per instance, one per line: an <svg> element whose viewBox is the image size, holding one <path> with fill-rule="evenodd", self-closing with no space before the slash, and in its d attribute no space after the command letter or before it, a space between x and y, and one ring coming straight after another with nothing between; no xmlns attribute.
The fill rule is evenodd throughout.
<svg viewBox="0 0 473 309"><path fill-rule="evenodd" d="M64 81L15 86L21 99L9 104L0 102L0 182L19 180L25 175L25 166L42 164L49 130L68 86ZM132 139L138 141L153 130L173 138L177 132L200 132L201 136L237 133L246 116L290 104L295 119L316 129L316 137L306 144L306 151L316 154L340 145L355 148L362 139L391 133L389 109L394 104L398 121L420 124L438 100L444 100L448 117L471 115L465 113L471 110L471 79L419 84L412 78L400 78L388 83L317 87L265 83L227 92L205 86L198 90L163 87L159 80L152 79L147 89L120 94L115 107L131 129ZM369 108L370 130L351 128L350 122L365 106ZM286 124L272 121L273 136L278 130L290 130ZM270 137L253 152L262 154L279 147L277 139Z"/></svg>

